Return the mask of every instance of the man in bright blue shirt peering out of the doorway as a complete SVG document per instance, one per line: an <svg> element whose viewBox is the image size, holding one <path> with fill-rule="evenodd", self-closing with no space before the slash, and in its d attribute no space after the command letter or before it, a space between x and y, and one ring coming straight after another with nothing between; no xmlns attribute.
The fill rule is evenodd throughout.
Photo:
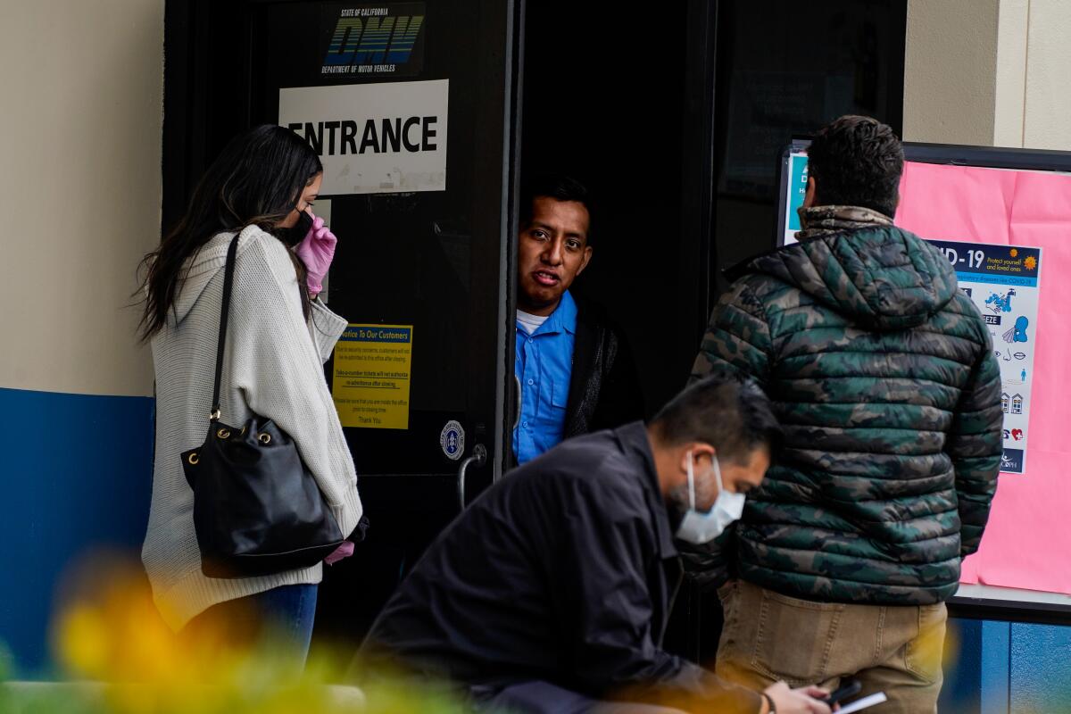
<svg viewBox="0 0 1071 714"><path fill-rule="evenodd" d="M642 419L624 334L600 306L574 299L591 260L587 188L564 176L525 186L517 240L514 370L521 413L513 454L525 464L569 437Z"/></svg>

